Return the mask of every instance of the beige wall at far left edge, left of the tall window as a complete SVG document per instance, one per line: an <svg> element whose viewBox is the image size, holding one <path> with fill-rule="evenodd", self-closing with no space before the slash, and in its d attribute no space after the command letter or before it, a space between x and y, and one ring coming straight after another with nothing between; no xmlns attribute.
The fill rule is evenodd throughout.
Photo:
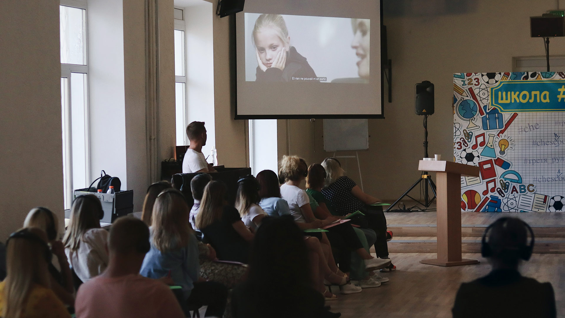
<svg viewBox="0 0 565 318"><path fill-rule="evenodd" d="M59 1L0 2L0 242L42 205L63 219ZM6 45L10 44L10 45Z"/></svg>

